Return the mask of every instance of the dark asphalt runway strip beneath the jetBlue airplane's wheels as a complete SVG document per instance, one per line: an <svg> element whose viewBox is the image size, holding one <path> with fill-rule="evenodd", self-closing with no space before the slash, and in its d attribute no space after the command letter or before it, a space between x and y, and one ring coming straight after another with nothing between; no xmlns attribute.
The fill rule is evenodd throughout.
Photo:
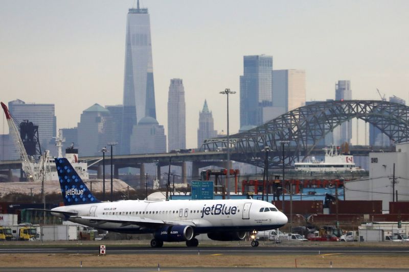
<svg viewBox="0 0 409 272"><path fill-rule="evenodd" d="M37 246L0 246L0 254L5 253L48 253L48 254L97 254L99 245L37 245ZM107 254L229 254L229 255L323 255L323 254L353 254L353 255L409 255L407 246L150 246L106 245Z"/></svg>

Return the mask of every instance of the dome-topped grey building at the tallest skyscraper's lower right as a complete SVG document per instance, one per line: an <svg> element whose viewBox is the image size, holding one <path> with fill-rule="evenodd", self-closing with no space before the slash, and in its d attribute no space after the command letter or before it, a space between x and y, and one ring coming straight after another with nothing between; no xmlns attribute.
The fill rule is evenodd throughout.
<svg viewBox="0 0 409 272"><path fill-rule="evenodd" d="M131 154L165 153L165 128L153 117L142 118L133 127L130 147Z"/></svg>

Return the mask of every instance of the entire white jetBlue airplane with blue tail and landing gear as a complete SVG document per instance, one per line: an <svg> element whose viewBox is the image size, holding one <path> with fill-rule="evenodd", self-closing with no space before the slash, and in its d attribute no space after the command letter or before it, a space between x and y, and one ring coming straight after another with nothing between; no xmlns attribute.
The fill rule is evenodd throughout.
<svg viewBox="0 0 409 272"><path fill-rule="evenodd" d="M242 240L247 232L287 223L287 217L274 205L253 199L100 202L69 161L56 158L55 162L65 206L49 210L52 215L107 231L152 233L152 247L160 247L164 241L197 246L195 236L205 233L213 240Z"/></svg>

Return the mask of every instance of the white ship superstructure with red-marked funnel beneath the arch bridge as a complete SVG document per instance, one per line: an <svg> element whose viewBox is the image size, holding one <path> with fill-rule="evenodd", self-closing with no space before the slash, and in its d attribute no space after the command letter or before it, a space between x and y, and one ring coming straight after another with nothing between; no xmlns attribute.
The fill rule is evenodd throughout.
<svg viewBox="0 0 409 272"><path fill-rule="evenodd" d="M309 162L296 162L296 170L306 172L344 172L344 171L365 171L354 163L352 155L340 155L337 146L331 145L325 151L324 161L315 160L313 157Z"/></svg>

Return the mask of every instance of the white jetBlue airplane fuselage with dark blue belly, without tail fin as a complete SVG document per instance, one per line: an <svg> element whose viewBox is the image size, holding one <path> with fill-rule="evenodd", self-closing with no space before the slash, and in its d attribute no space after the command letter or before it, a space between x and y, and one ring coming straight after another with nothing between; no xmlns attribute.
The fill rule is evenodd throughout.
<svg viewBox="0 0 409 272"><path fill-rule="evenodd" d="M75 212L70 221L122 233L152 233L155 223L192 226L195 235L220 231L262 231L284 226L287 217L267 202L243 200L128 200L62 206L54 211ZM52 210L52 211L53 211ZM64 217L61 213L52 213ZM106 221L104 221L106 219ZM108 221L109 220L109 221ZM118 221L116 221L118 220ZM144 220L139 226L131 221ZM149 225L152 221L152 226Z"/></svg>

